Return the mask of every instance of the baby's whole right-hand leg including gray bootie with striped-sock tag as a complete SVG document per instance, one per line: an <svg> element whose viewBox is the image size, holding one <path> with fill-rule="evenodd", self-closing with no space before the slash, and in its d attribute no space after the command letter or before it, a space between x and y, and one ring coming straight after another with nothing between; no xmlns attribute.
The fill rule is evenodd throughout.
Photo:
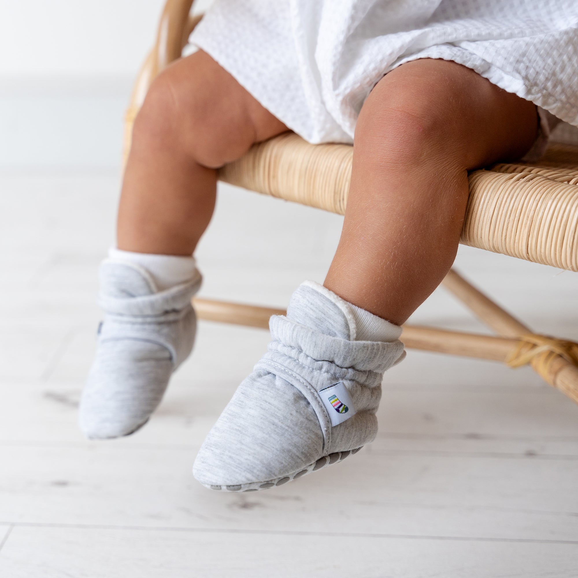
<svg viewBox="0 0 578 578"><path fill-rule="evenodd" d="M306 281L287 316L271 318L268 353L199 451L201 483L278 486L375 438L381 378L403 350L399 325L454 260L467 170L520 157L536 124L532 103L453 62L405 64L377 84L358 121L325 287Z"/></svg>

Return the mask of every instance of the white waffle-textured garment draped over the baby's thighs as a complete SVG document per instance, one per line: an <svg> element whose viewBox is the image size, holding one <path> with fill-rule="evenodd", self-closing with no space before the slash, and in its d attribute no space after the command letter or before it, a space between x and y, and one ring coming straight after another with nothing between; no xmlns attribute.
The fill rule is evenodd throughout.
<svg viewBox="0 0 578 578"><path fill-rule="evenodd" d="M216 0L191 43L312 143L353 142L373 86L418 58L578 125L578 0Z"/></svg>

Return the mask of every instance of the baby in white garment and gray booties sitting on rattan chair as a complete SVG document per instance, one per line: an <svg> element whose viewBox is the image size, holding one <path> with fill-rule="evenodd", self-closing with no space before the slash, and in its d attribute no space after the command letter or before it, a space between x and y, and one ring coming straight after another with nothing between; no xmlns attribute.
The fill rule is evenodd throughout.
<svg viewBox="0 0 578 578"><path fill-rule="evenodd" d="M540 6L217 0L192 35L199 50L154 80L136 118L117 246L100 269L86 435L129 435L158 406L194 342L192 255L217 169L292 130L353 142L339 246L323 285L305 281L271 318L268 353L193 471L206 487L253 491L370 443L401 325L454 261L468 171L538 158L553 114L578 124L578 6Z"/></svg>

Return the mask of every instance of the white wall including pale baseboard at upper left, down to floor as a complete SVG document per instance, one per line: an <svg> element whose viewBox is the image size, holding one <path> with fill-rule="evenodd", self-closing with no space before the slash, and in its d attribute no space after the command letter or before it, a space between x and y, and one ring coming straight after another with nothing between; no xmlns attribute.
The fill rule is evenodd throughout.
<svg viewBox="0 0 578 578"><path fill-rule="evenodd" d="M163 3L0 1L0 169L119 166L124 109Z"/></svg>

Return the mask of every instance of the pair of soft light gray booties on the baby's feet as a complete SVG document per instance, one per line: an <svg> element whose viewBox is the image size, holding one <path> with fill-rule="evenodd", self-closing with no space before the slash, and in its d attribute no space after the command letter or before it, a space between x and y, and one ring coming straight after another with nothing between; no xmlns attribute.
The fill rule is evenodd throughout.
<svg viewBox="0 0 578 578"><path fill-rule="evenodd" d="M105 318L80 402L88 438L138 430L192 349L201 275L165 291L138 265L105 261ZM360 331L360 312L365 328ZM380 340L359 340L363 332ZM403 354L401 328L305 281L271 343L209 432L193 466L208 488L254 491L335 464L375 439L383 373ZM357 338L357 339L356 339Z"/></svg>

